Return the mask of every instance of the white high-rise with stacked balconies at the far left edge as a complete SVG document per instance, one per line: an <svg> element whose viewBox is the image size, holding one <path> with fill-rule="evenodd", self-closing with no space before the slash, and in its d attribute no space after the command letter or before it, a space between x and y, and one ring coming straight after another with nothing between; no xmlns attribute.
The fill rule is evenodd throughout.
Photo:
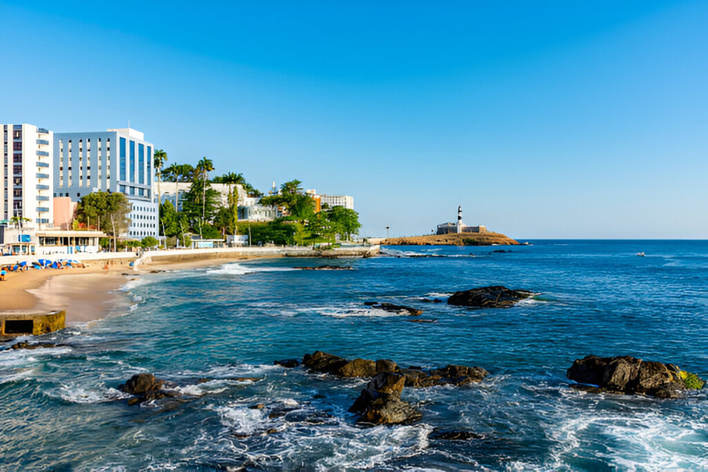
<svg viewBox="0 0 708 472"><path fill-rule="evenodd" d="M52 226L52 132L34 125L1 125L4 172L0 220L29 218L30 228Z"/></svg>

